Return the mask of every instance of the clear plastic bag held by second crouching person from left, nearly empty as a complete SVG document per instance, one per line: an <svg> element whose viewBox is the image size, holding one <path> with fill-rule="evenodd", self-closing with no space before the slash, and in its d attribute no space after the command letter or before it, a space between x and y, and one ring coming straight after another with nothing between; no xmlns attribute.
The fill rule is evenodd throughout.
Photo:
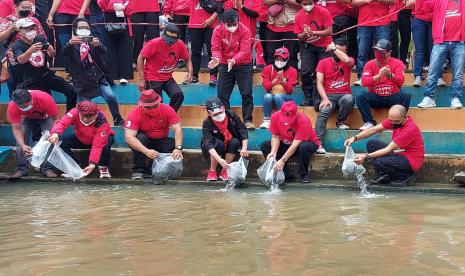
<svg viewBox="0 0 465 276"><path fill-rule="evenodd" d="M48 157L48 162L52 164L55 168L63 172L63 176L66 178L72 178L73 180L83 178L86 174L81 169L81 167L76 163L76 161L71 158L66 152L61 148L61 141L56 143L53 146L52 152Z"/></svg>

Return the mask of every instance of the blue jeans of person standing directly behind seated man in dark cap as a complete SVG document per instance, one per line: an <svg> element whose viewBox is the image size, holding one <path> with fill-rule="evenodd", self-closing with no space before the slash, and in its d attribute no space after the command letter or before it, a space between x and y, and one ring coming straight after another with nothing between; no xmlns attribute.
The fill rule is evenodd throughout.
<svg viewBox="0 0 465 276"><path fill-rule="evenodd" d="M358 58L357 58L357 75L362 77L363 67L372 55L372 47L380 39L389 40L391 30L389 25L386 26L369 26L357 28Z"/></svg>

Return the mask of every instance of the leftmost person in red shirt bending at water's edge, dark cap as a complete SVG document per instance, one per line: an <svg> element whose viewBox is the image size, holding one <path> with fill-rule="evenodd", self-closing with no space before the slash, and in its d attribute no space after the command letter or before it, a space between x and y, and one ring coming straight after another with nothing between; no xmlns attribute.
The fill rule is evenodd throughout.
<svg viewBox="0 0 465 276"><path fill-rule="evenodd" d="M11 94L8 104L8 119L17 144L16 172L10 178L28 175L28 157L32 155L33 134L50 130L58 118L58 107L52 96L39 90L18 89ZM46 162L41 171L46 177L57 177L52 166Z"/></svg>

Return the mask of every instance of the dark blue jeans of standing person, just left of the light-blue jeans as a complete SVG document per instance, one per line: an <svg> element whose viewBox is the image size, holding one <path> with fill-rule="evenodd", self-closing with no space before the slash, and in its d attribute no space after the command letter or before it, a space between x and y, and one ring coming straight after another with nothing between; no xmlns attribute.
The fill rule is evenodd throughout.
<svg viewBox="0 0 465 276"><path fill-rule="evenodd" d="M421 76L423 66L428 64L433 48L433 35L431 22L415 18L412 21L413 43L415 44L415 56L413 62L413 75Z"/></svg>

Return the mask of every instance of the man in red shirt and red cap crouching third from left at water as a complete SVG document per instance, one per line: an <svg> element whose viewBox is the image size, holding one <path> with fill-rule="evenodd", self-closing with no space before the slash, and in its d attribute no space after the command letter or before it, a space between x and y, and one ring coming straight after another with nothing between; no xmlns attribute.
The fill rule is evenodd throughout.
<svg viewBox="0 0 465 276"><path fill-rule="evenodd" d="M125 128L125 140L133 155L132 180L152 175L146 157L153 160L160 153L172 152L174 159L182 159L181 120L173 108L161 103L154 90L142 91L139 106L129 112ZM168 137L170 128L174 139Z"/></svg>

